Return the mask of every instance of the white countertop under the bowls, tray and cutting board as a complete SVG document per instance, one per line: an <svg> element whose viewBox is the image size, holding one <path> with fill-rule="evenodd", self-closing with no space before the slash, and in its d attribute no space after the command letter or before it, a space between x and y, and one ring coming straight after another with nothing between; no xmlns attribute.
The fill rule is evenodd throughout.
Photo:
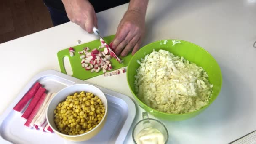
<svg viewBox="0 0 256 144"><path fill-rule="evenodd" d="M127 6L97 13L104 36L115 34ZM163 39L195 43L211 53L223 75L219 97L203 113L181 122L163 122L170 143L226 144L256 130L256 1L150 0L146 23L143 45ZM95 39L69 22L0 44L0 114L34 75L48 69L59 71L59 50L77 45L77 40ZM132 98L125 74L87 81ZM139 107L134 124L141 112ZM127 144L132 143L131 130Z"/></svg>

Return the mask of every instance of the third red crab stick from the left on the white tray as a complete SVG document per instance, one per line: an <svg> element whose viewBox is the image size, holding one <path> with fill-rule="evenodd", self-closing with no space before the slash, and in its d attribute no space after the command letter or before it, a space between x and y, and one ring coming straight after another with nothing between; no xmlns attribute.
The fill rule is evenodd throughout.
<svg viewBox="0 0 256 144"><path fill-rule="evenodd" d="M34 119L34 117L37 114L37 112L40 110L40 107L43 105L43 102L45 101L45 98L46 98L46 93L43 93L43 95L41 96L41 98L37 102L37 105L35 106L35 108L31 112L31 114L29 115L26 123L24 124L26 127L30 127L30 123Z"/></svg>

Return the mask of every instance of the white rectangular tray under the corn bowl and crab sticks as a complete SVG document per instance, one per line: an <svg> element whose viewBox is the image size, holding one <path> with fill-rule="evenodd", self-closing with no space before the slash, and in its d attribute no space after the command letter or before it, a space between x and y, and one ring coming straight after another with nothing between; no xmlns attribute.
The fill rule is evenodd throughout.
<svg viewBox="0 0 256 144"><path fill-rule="evenodd" d="M87 83L83 80L62 74L54 70L39 73L23 88L13 103L0 116L0 144L122 144L136 115L134 102L121 93L94 85L103 91L109 103L109 114L101 132L88 141L66 141L55 133L46 133L24 127L25 120L13 107L25 93L38 81L50 93L77 83ZM87 83L90 84L90 83Z"/></svg>

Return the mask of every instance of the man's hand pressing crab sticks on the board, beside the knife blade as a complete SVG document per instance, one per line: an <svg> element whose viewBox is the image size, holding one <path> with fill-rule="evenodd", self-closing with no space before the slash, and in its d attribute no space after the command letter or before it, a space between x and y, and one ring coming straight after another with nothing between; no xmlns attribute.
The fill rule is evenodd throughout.
<svg viewBox="0 0 256 144"><path fill-rule="evenodd" d="M111 43L117 55L132 55L139 50L145 32L145 15L148 0L131 0L128 10L117 27L115 39Z"/></svg>

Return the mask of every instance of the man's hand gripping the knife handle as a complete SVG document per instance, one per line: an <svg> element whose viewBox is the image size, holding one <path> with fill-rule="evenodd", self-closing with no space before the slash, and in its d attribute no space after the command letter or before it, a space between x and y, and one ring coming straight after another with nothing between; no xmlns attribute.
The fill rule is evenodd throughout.
<svg viewBox="0 0 256 144"><path fill-rule="evenodd" d="M70 21L80 25L88 33L97 27L97 16L88 0L62 0Z"/></svg>

